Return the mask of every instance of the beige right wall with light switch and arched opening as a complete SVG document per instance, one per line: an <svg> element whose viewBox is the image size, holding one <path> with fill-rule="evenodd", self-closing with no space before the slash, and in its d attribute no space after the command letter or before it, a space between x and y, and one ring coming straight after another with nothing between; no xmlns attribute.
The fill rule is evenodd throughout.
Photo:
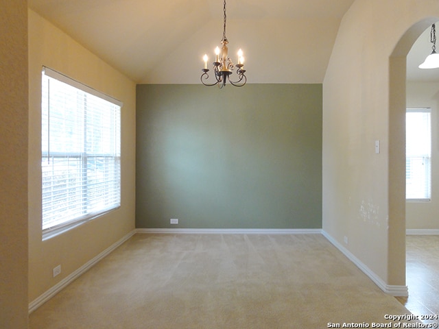
<svg viewBox="0 0 439 329"><path fill-rule="evenodd" d="M405 56L432 16L437 0L356 0L323 84L323 229L389 288L405 286Z"/></svg>

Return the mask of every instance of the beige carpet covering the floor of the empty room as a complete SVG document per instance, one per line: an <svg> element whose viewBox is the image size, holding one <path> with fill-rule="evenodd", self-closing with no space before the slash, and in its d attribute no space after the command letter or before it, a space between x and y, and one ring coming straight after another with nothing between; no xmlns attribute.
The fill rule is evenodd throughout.
<svg viewBox="0 0 439 329"><path fill-rule="evenodd" d="M135 234L29 328L372 328L386 314L410 312L320 234Z"/></svg>

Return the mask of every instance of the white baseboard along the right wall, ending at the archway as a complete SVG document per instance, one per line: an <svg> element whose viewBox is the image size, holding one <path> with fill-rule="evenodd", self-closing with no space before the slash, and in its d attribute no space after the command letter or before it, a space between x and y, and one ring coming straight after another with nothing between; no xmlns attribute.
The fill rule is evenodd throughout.
<svg viewBox="0 0 439 329"><path fill-rule="evenodd" d="M322 230L322 234L325 238L329 240L337 249L340 250L346 256L349 260L351 260L352 263L354 263L361 271L363 271L366 276L370 278L377 286L384 291L385 293L388 293L392 296L401 296L401 297L407 297L409 295L407 286L393 286L390 284L386 284L377 274L375 274L374 271L369 269L361 260L359 260L357 257L355 257L351 252L349 252L348 249L346 249L343 245L338 243L331 235L329 235L327 232Z"/></svg>

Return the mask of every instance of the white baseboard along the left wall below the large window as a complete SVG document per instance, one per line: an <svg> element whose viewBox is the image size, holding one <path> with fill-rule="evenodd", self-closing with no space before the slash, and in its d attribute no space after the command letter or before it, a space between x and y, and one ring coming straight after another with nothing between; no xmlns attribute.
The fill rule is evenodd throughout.
<svg viewBox="0 0 439 329"><path fill-rule="evenodd" d="M108 247L103 252L98 254L95 258L92 258L91 260L89 260L87 263L82 265L82 267L80 267L79 269L77 269L73 273L69 274L69 276L67 276L66 278L62 279L60 282L55 284L54 287L51 287L51 289L47 290L45 293L43 293L42 295L37 297L35 300L30 302L29 303L29 314L34 312L34 310L36 310L38 307L40 307L45 302L50 300L51 297L54 297L54 295L59 293L62 289L64 289L64 287L67 287L67 285L70 284L73 280L75 280L76 278L81 276L83 273L85 273L88 269L93 267L93 265L98 263L99 260L102 260L102 258L104 258L108 254L110 254L110 252L112 252L114 249L119 247L119 245L121 245L122 243L124 243L125 241L130 239L130 237L133 236L135 233L136 233L136 230L132 230L130 233L126 234L126 236L123 236L122 239L120 239L119 241L110 245L110 247Z"/></svg>

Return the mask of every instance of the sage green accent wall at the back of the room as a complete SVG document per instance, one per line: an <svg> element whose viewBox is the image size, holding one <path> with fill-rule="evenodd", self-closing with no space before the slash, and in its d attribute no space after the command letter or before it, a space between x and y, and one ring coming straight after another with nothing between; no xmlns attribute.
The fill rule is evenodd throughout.
<svg viewBox="0 0 439 329"><path fill-rule="evenodd" d="M322 84L140 84L136 129L137 228L322 228Z"/></svg>

